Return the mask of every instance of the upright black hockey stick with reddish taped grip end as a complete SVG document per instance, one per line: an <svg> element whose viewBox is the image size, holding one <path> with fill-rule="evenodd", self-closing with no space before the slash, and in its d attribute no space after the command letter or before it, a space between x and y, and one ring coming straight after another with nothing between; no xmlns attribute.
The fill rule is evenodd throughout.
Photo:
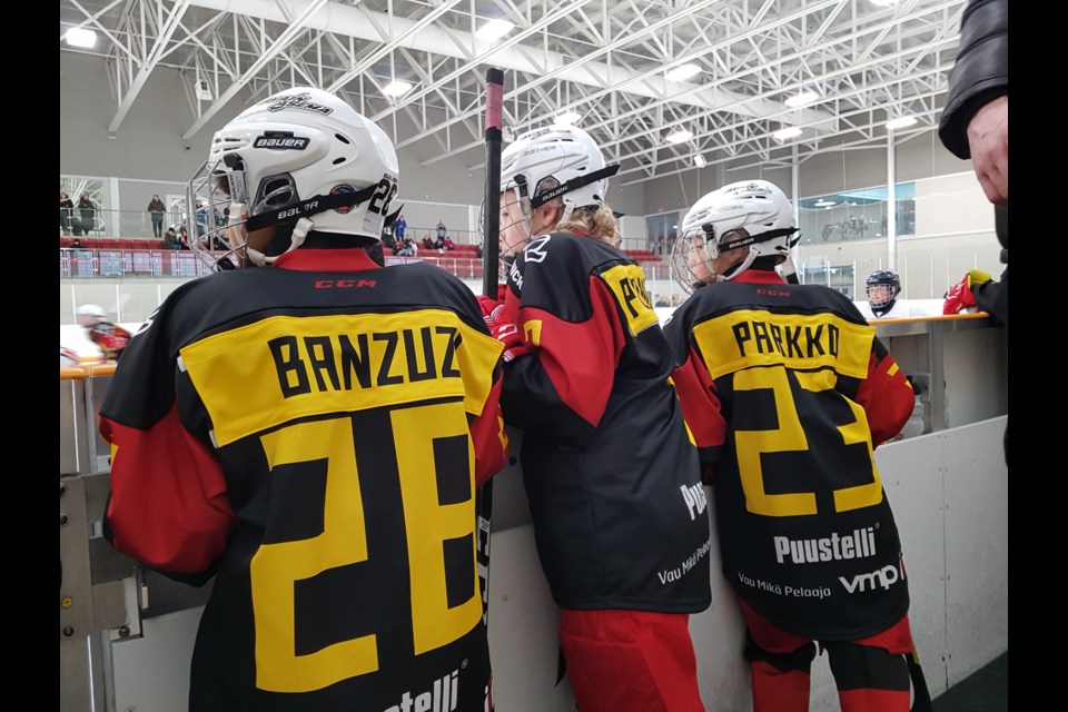
<svg viewBox="0 0 1068 712"><path fill-rule="evenodd" d="M483 197L482 293L497 298L497 261L501 230L501 112L504 106L504 72L486 71L486 192ZM475 493L478 516L478 578L482 582L482 620L490 620L490 518L493 516L493 479L487 479Z"/></svg>

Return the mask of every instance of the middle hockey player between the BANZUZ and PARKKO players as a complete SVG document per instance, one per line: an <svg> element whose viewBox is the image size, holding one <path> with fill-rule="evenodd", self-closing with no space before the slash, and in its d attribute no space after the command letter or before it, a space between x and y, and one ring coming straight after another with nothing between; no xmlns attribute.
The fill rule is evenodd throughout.
<svg viewBox="0 0 1068 712"><path fill-rule="evenodd" d="M615 247L617 169L572 126L501 157L502 405L580 712L698 712L686 623L711 602L709 520L671 352Z"/></svg>

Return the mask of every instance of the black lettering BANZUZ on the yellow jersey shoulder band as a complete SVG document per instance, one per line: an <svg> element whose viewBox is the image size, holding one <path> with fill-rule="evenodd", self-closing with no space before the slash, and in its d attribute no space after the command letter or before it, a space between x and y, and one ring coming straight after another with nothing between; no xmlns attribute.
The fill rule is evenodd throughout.
<svg viewBox="0 0 1068 712"><path fill-rule="evenodd" d="M456 327L424 326L355 335L280 336L267 342L267 347L281 395L291 398L313 390L459 378L455 356L461 339Z"/></svg>

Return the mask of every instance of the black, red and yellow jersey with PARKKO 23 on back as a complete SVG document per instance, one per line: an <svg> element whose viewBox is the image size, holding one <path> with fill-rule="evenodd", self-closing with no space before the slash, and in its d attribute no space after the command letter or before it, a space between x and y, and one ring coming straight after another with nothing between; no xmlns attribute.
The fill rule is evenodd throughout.
<svg viewBox="0 0 1068 712"><path fill-rule="evenodd" d="M914 397L874 327L832 289L749 269L699 289L664 332L738 595L815 640L898 621L908 585L872 452Z"/></svg>

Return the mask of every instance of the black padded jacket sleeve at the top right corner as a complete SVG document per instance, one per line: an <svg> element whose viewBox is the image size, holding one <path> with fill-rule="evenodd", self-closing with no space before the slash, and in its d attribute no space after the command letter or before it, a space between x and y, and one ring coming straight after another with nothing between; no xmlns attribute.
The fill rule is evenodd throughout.
<svg viewBox="0 0 1068 712"><path fill-rule="evenodd" d="M971 158L968 123L983 105L1009 93L1009 1L969 0L960 20L960 49L949 72L949 96L938 123L942 144Z"/></svg>

